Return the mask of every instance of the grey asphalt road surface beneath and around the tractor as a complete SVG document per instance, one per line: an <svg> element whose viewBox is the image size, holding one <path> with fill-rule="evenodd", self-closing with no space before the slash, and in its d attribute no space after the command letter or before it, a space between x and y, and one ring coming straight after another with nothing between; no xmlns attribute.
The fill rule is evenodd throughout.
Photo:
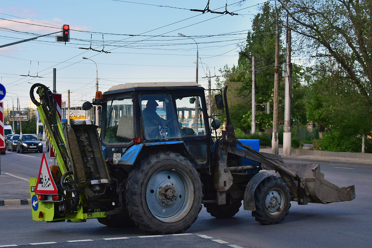
<svg viewBox="0 0 372 248"><path fill-rule="evenodd" d="M11 154L1 156L1 171L18 177L36 177L42 154ZM48 161L51 162L51 161ZM11 163L11 164L7 164ZM325 179L338 186L355 184L356 199L351 202L299 206L292 202L289 215L278 225L260 225L248 211L241 210L230 219L216 219L206 212L186 232L207 235L137 237L148 235L138 228L112 229L97 222L46 223L31 219L31 206L0 207L0 246L39 242L61 242L40 247L370 247L372 244L372 167L327 164L321 166ZM2 176L2 175L1 175ZM3 180L4 177L0 177ZM19 184L26 181L16 178ZM27 184L28 185L28 184ZM0 181L0 186L3 184ZM0 199L3 199L0 187ZM14 198L9 198L14 199ZM226 244L212 241L219 239ZM73 240L93 241L65 242Z"/></svg>

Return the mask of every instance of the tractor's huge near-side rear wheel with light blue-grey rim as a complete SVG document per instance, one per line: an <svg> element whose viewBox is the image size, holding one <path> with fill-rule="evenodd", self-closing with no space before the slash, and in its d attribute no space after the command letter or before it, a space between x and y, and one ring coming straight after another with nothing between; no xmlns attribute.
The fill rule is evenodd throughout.
<svg viewBox="0 0 372 248"><path fill-rule="evenodd" d="M171 234L185 231L202 209L200 175L187 158L172 152L151 154L126 181L126 207L145 231Z"/></svg>

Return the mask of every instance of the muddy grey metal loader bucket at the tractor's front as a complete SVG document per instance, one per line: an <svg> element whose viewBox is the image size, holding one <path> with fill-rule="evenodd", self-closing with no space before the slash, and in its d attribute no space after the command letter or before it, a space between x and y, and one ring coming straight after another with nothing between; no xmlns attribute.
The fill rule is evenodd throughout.
<svg viewBox="0 0 372 248"><path fill-rule="evenodd" d="M320 172L318 164L283 164L288 170L293 171L300 178L299 204L345 202L355 199L354 185L338 187L333 183L324 180L324 174ZM302 188L303 190L300 190Z"/></svg>

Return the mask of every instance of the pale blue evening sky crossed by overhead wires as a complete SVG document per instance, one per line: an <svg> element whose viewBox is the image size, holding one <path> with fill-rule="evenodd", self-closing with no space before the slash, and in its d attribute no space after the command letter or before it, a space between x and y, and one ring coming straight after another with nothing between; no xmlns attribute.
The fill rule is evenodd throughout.
<svg viewBox="0 0 372 248"><path fill-rule="evenodd" d="M52 89L53 68L57 93L67 101L70 90L71 106L93 99L96 71L102 92L122 83L196 81L197 49L198 83L208 88L208 68L218 76L224 65L237 65L239 45L265 0L239 2L210 0L210 10L224 12L227 4L238 14L221 15L190 11L204 10L208 0L4 1L0 45L57 32L64 24L71 30L66 44L56 41L57 33L0 48L4 108L16 106L17 98L28 107L31 84Z"/></svg>

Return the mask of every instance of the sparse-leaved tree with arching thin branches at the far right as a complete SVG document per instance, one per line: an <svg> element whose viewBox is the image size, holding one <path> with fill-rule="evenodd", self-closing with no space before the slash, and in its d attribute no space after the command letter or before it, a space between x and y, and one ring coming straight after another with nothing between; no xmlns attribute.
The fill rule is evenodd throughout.
<svg viewBox="0 0 372 248"><path fill-rule="evenodd" d="M351 122L348 125L352 126L352 123L355 123L354 120L360 119L359 115L354 116L354 113L360 114L354 109L361 108L367 114L362 119L369 122L369 125L356 123L362 129L359 133L371 131L372 1L279 0L279 2L290 17L291 28L299 34L293 49L309 59L316 59L322 70L333 71L336 68L338 71L345 72L344 74L324 75L327 78L333 78L331 83L338 87L338 89L330 87L325 90L328 90L327 92L334 90L333 93L338 94L334 96L327 94L329 104L325 106L323 105L325 102L321 100L323 96L314 95L314 102L309 107L313 110L310 116L318 117L321 122L332 125L336 120L339 120L338 123L346 123L349 120ZM327 79L323 83L330 82ZM339 92L340 89L343 90L342 93ZM355 102L356 99L357 102ZM353 104L348 105L346 100L353 100ZM350 106L350 108L338 108L336 111L337 104L343 107ZM330 116L330 113L335 114Z"/></svg>

